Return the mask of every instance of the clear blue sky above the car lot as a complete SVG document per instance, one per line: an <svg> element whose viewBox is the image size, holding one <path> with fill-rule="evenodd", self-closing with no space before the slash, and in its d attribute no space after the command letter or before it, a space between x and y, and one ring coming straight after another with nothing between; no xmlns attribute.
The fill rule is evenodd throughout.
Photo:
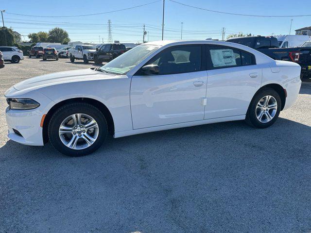
<svg viewBox="0 0 311 233"><path fill-rule="evenodd" d="M72 16L114 11L155 0L2 0L0 10L34 16ZM250 15L310 15L311 0L177 0L179 2L215 11ZM149 41L161 39L162 4L150 5L121 12L85 17L26 17L3 13L4 23L22 35L49 31L61 27L69 33L71 41L99 42L107 40L107 21L112 22L112 38L121 42L141 42L142 25L149 32ZM225 27L229 33L255 35L288 34L291 19L295 29L311 26L311 17L243 17L189 8L165 0L164 39L180 39L183 22L183 39L221 39ZM24 40L24 37L22 37ZM146 40L148 37L146 36ZM28 37L25 36L25 40Z"/></svg>

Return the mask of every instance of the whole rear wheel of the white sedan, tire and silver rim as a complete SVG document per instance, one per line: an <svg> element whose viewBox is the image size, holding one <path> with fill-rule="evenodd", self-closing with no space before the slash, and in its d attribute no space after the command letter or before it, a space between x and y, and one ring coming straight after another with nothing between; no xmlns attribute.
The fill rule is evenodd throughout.
<svg viewBox="0 0 311 233"><path fill-rule="evenodd" d="M267 128L276 121L280 111L279 94L272 88L264 88L251 101L245 120L257 128Z"/></svg>

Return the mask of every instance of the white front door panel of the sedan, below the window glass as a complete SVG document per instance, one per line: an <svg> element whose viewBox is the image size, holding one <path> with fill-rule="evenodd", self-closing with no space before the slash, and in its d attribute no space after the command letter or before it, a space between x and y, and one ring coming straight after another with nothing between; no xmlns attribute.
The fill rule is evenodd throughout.
<svg viewBox="0 0 311 233"><path fill-rule="evenodd" d="M134 129L203 120L207 72L133 76L131 109ZM197 85L197 86L195 86Z"/></svg>

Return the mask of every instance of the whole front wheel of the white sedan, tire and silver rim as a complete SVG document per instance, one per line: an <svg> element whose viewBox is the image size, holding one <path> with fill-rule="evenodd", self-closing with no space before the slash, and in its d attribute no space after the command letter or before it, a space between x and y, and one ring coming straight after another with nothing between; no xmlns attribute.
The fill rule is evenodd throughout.
<svg viewBox="0 0 311 233"><path fill-rule="evenodd" d="M52 115L48 133L53 147L68 156L97 150L107 136L103 113L84 102L65 104Z"/></svg>

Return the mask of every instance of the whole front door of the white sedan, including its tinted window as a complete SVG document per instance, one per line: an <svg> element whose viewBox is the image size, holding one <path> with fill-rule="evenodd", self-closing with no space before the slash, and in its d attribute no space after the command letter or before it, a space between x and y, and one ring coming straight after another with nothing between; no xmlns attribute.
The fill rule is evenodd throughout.
<svg viewBox="0 0 311 233"><path fill-rule="evenodd" d="M158 74L138 70L130 94L134 129L203 120L207 71L202 58L201 45L175 46L145 64L158 65Z"/></svg>

